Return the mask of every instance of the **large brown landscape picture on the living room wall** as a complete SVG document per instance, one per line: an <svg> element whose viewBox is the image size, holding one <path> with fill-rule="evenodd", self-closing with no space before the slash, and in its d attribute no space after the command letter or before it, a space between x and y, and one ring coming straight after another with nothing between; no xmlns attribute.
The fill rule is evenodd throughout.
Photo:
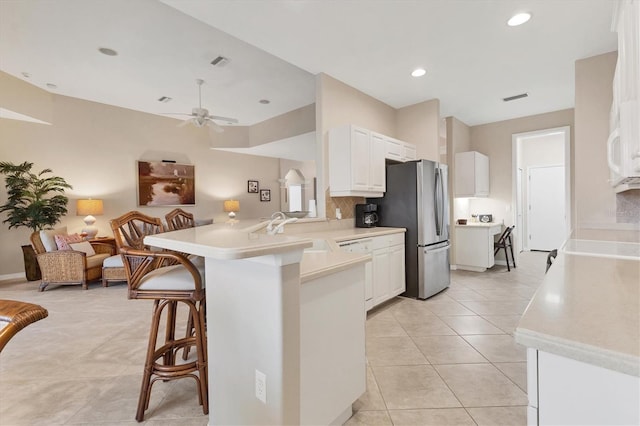
<svg viewBox="0 0 640 426"><path fill-rule="evenodd" d="M195 185L193 164L138 161L139 206L193 206Z"/></svg>

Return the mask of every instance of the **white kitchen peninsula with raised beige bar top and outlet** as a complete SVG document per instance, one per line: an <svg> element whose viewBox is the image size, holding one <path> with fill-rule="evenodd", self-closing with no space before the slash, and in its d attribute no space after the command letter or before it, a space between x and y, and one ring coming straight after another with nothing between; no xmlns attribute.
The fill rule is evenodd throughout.
<svg viewBox="0 0 640 426"><path fill-rule="evenodd" d="M145 238L205 258L210 424L344 423L366 389L370 256L258 228Z"/></svg>

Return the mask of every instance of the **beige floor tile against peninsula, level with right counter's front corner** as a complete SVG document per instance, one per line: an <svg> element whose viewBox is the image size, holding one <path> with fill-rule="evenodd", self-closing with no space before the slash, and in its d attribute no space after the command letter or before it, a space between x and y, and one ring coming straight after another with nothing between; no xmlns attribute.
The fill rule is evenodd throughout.
<svg viewBox="0 0 640 426"><path fill-rule="evenodd" d="M409 337L371 337L366 343L367 360L372 366L429 363Z"/></svg>

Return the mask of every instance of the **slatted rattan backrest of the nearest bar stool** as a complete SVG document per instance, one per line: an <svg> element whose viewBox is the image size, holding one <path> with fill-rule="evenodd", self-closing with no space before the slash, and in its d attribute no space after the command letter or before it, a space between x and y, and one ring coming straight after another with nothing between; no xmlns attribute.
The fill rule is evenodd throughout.
<svg viewBox="0 0 640 426"><path fill-rule="evenodd" d="M130 211L111 219L111 229L118 250L123 247L144 249L144 237L163 232L160 218L147 216L138 211Z"/></svg>

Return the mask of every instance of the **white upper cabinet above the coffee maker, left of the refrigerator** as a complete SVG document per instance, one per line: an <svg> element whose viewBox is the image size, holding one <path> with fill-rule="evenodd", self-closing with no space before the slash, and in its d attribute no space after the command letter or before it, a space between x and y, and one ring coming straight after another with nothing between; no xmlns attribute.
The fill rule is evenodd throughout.
<svg viewBox="0 0 640 426"><path fill-rule="evenodd" d="M385 191L382 135L353 125L329 131L332 197L382 197Z"/></svg>

